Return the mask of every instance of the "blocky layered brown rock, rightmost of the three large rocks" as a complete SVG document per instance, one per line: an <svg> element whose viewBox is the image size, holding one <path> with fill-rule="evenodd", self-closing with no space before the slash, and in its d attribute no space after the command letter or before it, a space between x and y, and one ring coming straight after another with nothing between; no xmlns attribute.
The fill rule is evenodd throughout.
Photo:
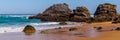
<svg viewBox="0 0 120 40"><path fill-rule="evenodd" d="M112 21L117 15L116 5L110 3L100 4L94 14L97 22Z"/></svg>

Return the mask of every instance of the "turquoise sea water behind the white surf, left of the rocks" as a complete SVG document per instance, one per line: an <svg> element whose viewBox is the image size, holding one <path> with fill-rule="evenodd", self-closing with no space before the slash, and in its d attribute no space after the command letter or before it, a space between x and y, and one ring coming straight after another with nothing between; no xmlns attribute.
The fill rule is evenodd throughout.
<svg viewBox="0 0 120 40"><path fill-rule="evenodd" d="M29 23L40 23L38 19L28 19L28 16L32 15L17 15L17 14L1 14L0 15L0 27L8 27L12 25L27 25Z"/></svg>

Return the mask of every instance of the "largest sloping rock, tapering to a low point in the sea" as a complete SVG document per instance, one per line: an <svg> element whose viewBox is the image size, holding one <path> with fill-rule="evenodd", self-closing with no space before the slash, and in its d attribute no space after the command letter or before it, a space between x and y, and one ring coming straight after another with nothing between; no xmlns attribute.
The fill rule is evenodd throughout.
<svg viewBox="0 0 120 40"><path fill-rule="evenodd" d="M42 21L69 21L71 10L66 3L54 4L46 9L42 14L31 16L29 19L37 18Z"/></svg>

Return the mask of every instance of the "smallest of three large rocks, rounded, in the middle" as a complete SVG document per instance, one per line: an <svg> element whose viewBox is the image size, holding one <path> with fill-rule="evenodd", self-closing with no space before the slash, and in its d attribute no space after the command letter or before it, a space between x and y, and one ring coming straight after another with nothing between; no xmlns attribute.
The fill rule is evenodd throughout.
<svg viewBox="0 0 120 40"><path fill-rule="evenodd" d="M73 10L73 14L70 15L71 21L77 21L77 22L86 22L90 20L90 12L89 10L82 6L82 7L77 7L76 9Z"/></svg>

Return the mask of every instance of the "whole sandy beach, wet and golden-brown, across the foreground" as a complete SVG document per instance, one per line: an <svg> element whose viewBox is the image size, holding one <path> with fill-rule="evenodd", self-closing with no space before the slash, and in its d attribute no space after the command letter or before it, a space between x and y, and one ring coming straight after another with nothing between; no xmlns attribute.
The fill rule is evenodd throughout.
<svg viewBox="0 0 120 40"><path fill-rule="evenodd" d="M99 32L93 27L103 27L103 31ZM78 30L69 31L71 27L61 29L48 29L47 33L37 31L32 35L25 35L22 32L0 34L0 40L120 40L120 31L113 30L120 24L111 24L110 22L84 24L82 26L74 26ZM107 31L106 31L107 30Z"/></svg>

